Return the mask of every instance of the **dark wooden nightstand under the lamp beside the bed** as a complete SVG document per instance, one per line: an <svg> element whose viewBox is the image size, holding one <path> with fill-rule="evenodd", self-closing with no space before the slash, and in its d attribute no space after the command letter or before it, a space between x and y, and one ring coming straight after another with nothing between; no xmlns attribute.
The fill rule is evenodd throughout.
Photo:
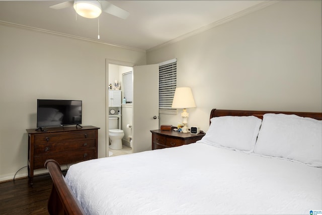
<svg viewBox="0 0 322 215"><path fill-rule="evenodd" d="M152 133L152 150L179 147L200 140L205 133L181 133L173 130L150 130Z"/></svg>

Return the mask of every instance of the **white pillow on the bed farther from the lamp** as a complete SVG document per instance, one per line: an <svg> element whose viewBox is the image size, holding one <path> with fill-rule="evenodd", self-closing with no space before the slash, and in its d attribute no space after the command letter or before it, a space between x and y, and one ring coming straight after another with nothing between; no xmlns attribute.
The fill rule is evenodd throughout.
<svg viewBox="0 0 322 215"><path fill-rule="evenodd" d="M254 153L322 166L322 121L286 114L264 114Z"/></svg>

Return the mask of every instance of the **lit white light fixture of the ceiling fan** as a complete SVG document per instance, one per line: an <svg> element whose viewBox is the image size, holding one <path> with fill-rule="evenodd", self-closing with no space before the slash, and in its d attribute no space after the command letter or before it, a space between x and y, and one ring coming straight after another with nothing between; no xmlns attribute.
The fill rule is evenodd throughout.
<svg viewBox="0 0 322 215"><path fill-rule="evenodd" d="M74 1L74 9L79 16L97 18L101 15L101 4L98 1Z"/></svg>

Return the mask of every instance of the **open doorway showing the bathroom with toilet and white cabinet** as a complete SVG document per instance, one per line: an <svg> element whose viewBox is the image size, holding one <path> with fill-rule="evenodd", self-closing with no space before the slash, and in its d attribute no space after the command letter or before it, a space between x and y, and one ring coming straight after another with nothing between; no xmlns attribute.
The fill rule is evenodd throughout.
<svg viewBox="0 0 322 215"><path fill-rule="evenodd" d="M132 146L132 101L125 95L133 92L133 79L124 80L133 73L133 64L115 60L106 61L106 155L107 157L133 153ZM132 83L131 83L132 80ZM132 84L132 85L131 85ZM113 133L112 133L113 132ZM122 136L122 137L120 137ZM115 140L116 139L116 140ZM121 146L120 142L121 141Z"/></svg>

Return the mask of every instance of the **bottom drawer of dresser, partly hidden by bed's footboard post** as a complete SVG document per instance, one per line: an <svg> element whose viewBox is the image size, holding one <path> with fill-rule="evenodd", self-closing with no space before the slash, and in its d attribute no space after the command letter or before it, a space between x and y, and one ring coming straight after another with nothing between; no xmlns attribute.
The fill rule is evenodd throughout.
<svg viewBox="0 0 322 215"><path fill-rule="evenodd" d="M34 169L44 168L47 159L54 159L58 164L70 164L97 158L96 149L76 150L72 152L48 153L34 157Z"/></svg>

